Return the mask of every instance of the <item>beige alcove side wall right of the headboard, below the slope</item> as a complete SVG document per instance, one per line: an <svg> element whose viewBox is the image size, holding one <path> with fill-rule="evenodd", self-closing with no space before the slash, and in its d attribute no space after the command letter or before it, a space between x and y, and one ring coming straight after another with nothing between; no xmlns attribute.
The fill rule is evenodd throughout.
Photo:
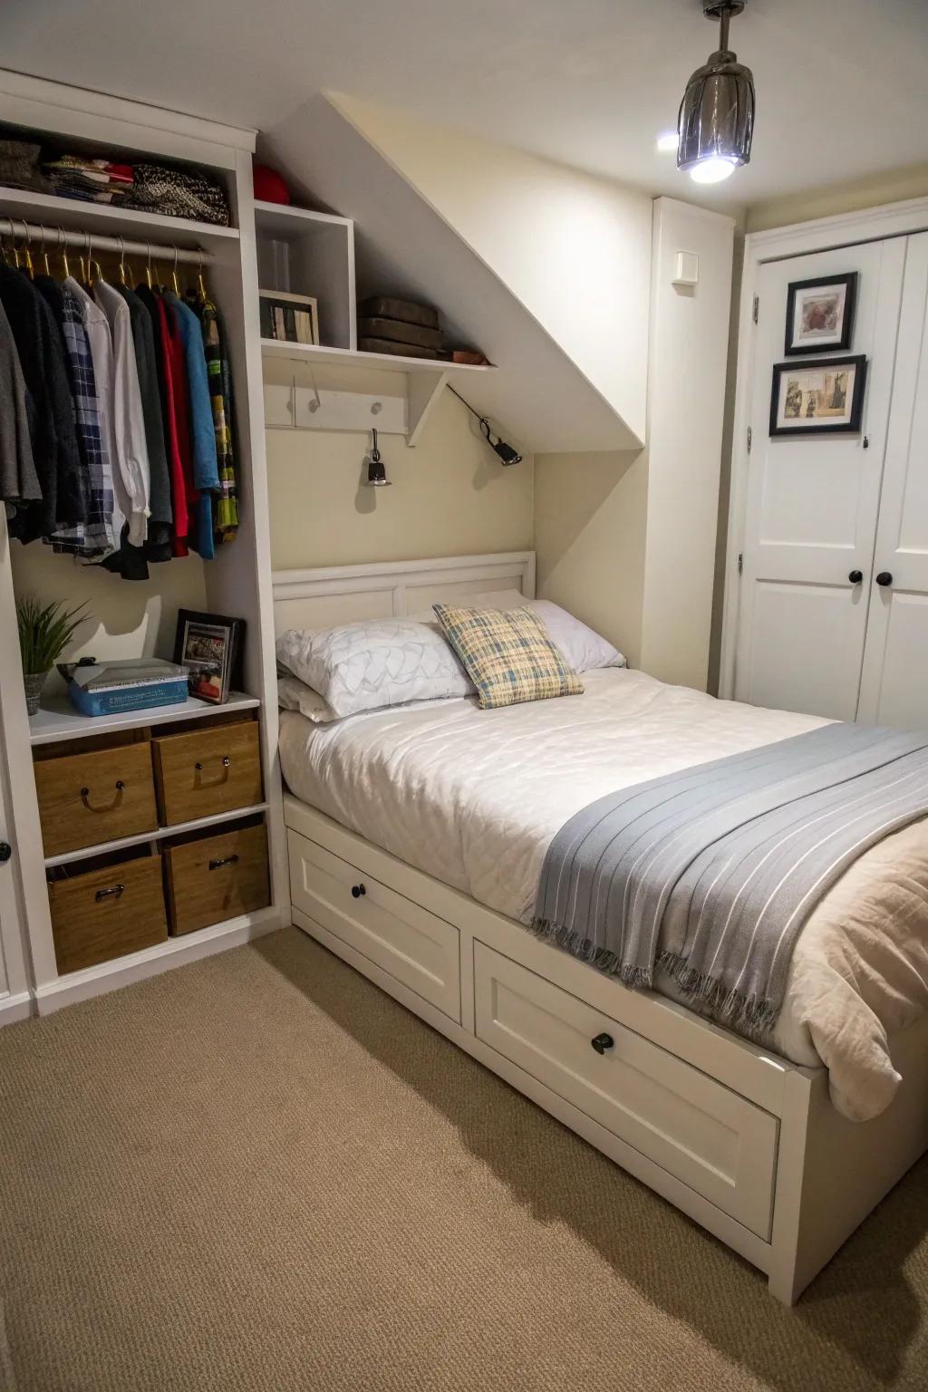
<svg viewBox="0 0 928 1392"><path fill-rule="evenodd" d="M541 599L641 656L647 452L540 454L534 546Z"/></svg>

